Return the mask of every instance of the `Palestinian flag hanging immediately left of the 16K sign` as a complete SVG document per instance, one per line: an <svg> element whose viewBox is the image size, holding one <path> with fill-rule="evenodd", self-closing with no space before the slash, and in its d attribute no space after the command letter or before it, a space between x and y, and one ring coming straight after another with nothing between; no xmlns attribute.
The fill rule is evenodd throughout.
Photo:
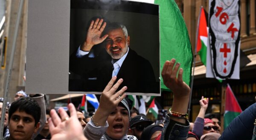
<svg viewBox="0 0 256 140"><path fill-rule="evenodd" d="M208 31L207 20L204 13L204 8L201 7L201 14L198 17L198 31L197 31L197 53L200 56L201 62L206 66Z"/></svg>

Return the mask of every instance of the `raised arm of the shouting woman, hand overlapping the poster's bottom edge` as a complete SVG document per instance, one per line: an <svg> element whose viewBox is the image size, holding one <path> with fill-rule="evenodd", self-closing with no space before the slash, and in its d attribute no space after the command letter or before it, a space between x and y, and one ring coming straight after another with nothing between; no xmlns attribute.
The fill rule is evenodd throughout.
<svg viewBox="0 0 256 140"><path fill-rule="evenodd" d="M127 89L126 86L116 92L123 79L119 79L116 84L114 84L115 81L116 76L112 77L111 81L105 87L102 95L100 96L99 108L84 128L84 135L90 140L101 139L102 135L108 129L108 116L116 109L118 104L126 96L124 93Z"/></svg>

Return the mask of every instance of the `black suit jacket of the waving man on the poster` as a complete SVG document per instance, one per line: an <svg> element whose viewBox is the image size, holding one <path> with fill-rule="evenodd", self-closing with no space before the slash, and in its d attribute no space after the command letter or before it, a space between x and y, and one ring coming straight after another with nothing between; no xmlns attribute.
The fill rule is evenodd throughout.
<svg viewBox="0 0 256 140"><path fill-rule="evenodd" d="M70 71L81 77L78 81L70 80L70 91L102 92L112 77L111 60L105 50L94 58L89 58L88 55L77 58L76 52L73 53L70 57ZM119 78L124 81L118 90L127 86L126 92L160 93L159 81L155 79L150 62L131 48L119 69L117 79Z"/></svg>

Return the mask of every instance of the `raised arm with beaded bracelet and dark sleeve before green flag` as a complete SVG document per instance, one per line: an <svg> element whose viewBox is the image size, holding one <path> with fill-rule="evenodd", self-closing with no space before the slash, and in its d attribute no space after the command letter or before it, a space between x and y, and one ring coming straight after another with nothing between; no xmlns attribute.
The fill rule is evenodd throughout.
<svg viewBox="0 0 256 140"><path fill-rule="evenodd" d="M180 63L175 64L175 59L166 61L162 77L163 82L173 92L172 112L166 115L161 140L186 140L189 132L189 121L186 112L189 104L189 86L183 82L183 69ZM178 76L177 76L178 74ZM174 113L176 112L176 113Z"/></svg>

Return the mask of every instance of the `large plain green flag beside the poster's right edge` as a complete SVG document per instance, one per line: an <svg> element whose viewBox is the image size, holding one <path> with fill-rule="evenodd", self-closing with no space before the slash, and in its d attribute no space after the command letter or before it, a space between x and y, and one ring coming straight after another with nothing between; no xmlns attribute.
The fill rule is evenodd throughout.
<svg viewBox="0 0 256 140"><path fill-rule="evenodd" d="M192 48L189 34L180 9L174 0L155 0L160 5L160 67L166 60L176 59L183 68L183 81L190 84L192 69ZM163 79L163 78L161 78ZM161 80L161 88L169 90Z"/></svg>

